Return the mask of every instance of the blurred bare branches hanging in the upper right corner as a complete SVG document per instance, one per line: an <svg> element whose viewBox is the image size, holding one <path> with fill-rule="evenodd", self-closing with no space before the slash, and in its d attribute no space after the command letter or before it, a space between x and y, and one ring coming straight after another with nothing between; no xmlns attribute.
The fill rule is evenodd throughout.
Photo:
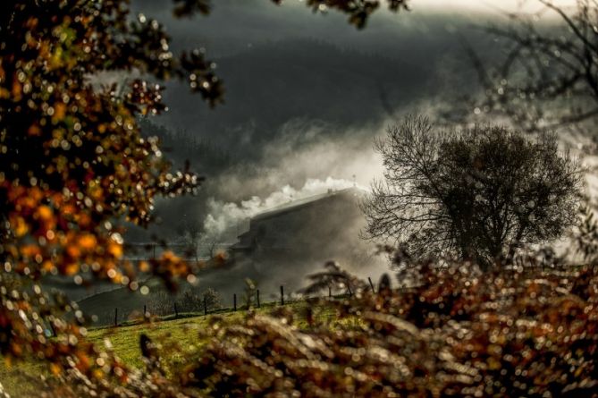
<svg viewBox="0 0 598 398"><path fill-rule="evenodd" d="M487 30L505 54L487 67L470 55L484 86L476 112L507 114L528 131L595 123L598 116L598 2L551 0L537 13L510 13L510 23ZM556 19L554 18L556 17Z"/></svg>

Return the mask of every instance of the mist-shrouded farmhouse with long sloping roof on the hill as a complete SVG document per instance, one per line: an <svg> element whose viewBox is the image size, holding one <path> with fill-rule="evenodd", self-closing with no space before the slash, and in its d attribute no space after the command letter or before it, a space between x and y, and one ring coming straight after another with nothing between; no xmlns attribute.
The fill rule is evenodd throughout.
<svg viewBox="0 0 598 398"><path fill-rule="evenodd" d="M248 231L229 249L231 264L224 280L230 284L249 278L263 292L278 292L280 285L294 292L330 260L353 275L377 280L388 263L376 255L374 242L360 238L366 219L359 202L365 194L358 188L328 191L254 216ZM224 288L216 275L203 282L218 291Z"/></svg>

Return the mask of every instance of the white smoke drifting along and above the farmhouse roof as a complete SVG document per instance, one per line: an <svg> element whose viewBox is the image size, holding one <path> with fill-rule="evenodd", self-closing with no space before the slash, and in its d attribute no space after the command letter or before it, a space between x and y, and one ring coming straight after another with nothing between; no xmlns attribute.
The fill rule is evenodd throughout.
<svg viewBox="0 0 598 398"><path fill-rule="evenodd" d="M361 129L302 119L285 123L259 161L232 168L208 187L202 240L233 243L251 217L294 200L354 186L367 191L382 173L372 148L382 131L378 123Z"/></svg>

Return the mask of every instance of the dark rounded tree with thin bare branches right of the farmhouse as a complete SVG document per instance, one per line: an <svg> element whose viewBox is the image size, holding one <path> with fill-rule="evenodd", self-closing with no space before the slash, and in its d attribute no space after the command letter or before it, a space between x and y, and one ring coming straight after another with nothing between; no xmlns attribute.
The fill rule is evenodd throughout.
<svg viewBox="0 0 598 398"><path fill-rule="evenodd" d="M375 141L383 181L362 203L366 236L413 255L451 255L487 267L574 224L582 173L553 134L477 126L434 131L409 116Z"/></svg>

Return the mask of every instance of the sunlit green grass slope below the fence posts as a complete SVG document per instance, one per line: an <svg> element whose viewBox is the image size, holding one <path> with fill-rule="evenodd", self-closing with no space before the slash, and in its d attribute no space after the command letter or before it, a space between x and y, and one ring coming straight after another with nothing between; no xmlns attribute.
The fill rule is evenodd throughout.
<svg viewBox="0 0 598 398"><path fill-rule="evenodd" d="M285 307L297 314L296 324L299 327L307 327L303 313L307 303L305 301L291 302ZM276 303L267 303L258 312L268 313L272 309L279 307ZM239 310L233 312L232 309L223 309L218 313L226 320L234 321L235 318L242 318L246 311ZM200 330L205 329L209 319L214 317L210 314L207 317L203 314L181 314L181 318L173 319L168 317L152 323L139 323L137 325L103 327L91 329L88 338L98 347L114 351L114 353L127 365L141 368L144 366L139 351L139 335L147 334L154 343L161 344L165 349L176 352L176 355L166 359L166 364L176 362L183 356L190 355L198 351L206 343L200 337ZM333 318L331 309L323 309L318 318ZM36 391L31 386L30 377L39 377L45 374L46 369L43 365L34 361L24 361L13 363L11 366L0 367L0 382L4 389L13 397L37 396Z"/></svg>

